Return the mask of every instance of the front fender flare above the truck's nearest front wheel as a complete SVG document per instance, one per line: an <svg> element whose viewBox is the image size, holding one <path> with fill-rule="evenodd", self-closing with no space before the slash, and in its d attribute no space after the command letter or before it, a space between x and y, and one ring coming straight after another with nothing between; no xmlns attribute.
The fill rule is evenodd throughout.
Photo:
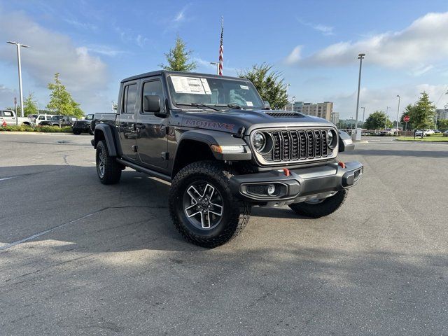
<svg viewBox="0 0 448 336"><path fill-rule="evenodd" d="M177 148L182 144L182 141L193 140L207 144L211 150L211 145L218 146L244 146L244 153L218 153L211 151L216 160L251 160L252 152L251 148L246 144L246 141L239 137L234 137L235 134L212 131L212 130L189 130L180 134L177 141ZM176 155L177 157L177 148Z"/></svg>

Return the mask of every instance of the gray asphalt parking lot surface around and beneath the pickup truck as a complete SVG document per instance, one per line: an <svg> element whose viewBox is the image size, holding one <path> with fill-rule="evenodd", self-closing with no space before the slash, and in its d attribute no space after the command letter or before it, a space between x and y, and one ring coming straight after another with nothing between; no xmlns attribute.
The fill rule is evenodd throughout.
<svg viewBox="0 0 448 336"><path fill-rule="evenodd" d="M100 184L90 139L0 134L0 335L448 335L447 144L358 144L335 214L253 208L207 250L167 183Z"/></svg>

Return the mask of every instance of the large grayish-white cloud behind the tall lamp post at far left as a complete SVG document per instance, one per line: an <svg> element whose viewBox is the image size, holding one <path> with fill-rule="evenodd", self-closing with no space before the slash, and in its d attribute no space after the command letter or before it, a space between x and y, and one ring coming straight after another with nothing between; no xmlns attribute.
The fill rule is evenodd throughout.
<svg viewBox="0 0 448 336"><path fill-rule="evenodd" d="M94 92L106 89L108 71L102 59L90 55L87 47L74 45L69 36L45 29L23 13L6 13L1 9L0 31L6 41L31 46L22 50L22 71L34 80L36 87L46 87L59 72L62 83L81 107L92 102L98 106ZM0 44L0 62L17 66L13 45ZM25 86L24 83L26 91Z"/></svg>

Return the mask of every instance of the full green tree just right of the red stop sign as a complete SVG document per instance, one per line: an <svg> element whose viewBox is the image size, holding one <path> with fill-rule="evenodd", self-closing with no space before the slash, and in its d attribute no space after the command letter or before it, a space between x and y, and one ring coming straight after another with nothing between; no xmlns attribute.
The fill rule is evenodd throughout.
<svg viewBox="0 0 448 336"><path fill-rule="evenodd" d="M433 102L430 102L429 95L423 91L419 100L414 105L406 106L405 113L403 114L409 116L412 128L424 130L434 125L435 110L435 105ZM421 137L423 138L423 132L421 132Z"/></svg>

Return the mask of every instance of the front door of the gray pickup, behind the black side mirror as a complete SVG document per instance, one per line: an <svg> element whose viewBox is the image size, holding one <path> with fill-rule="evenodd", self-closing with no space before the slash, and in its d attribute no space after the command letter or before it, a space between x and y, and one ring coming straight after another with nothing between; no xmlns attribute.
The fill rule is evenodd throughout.
<svg viewBox="0 0 448 336"><path fill-rule="evenodd" d="M165 94L160 78L142 80L139 113L137 115L137 146L141 163L149 167L167 168L167 127L165 118L154 116L154 113L143 111L143 97L158 95L160 111L165 109Z"/></svg>

